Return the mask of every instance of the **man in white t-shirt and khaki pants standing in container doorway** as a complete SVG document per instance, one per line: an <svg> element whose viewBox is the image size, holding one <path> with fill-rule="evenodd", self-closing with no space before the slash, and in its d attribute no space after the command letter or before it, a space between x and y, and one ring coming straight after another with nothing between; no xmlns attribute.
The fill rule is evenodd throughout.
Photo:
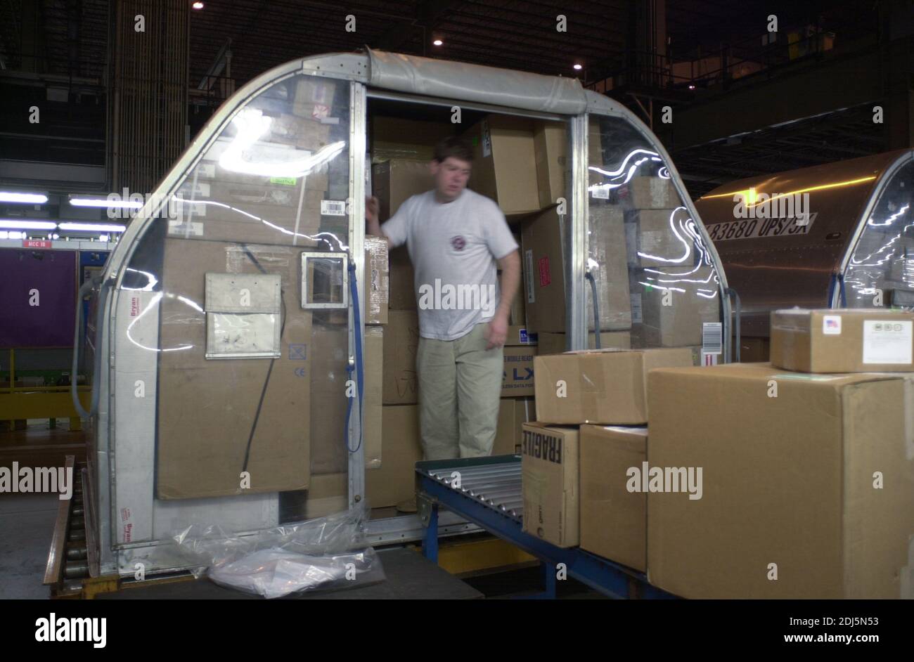
<svg viewBox="0 0 914 662"><path fill-rule="evenodd" d="M430 163L433 191L410 197L383 226L377 198L366 205L368 234L386 236L390 247L406 244L416 274L416 370L427 460L492 454L508 311L520 282L517 242L505 215L466 188L472 162L465 142L446 138Z"/></svg>

